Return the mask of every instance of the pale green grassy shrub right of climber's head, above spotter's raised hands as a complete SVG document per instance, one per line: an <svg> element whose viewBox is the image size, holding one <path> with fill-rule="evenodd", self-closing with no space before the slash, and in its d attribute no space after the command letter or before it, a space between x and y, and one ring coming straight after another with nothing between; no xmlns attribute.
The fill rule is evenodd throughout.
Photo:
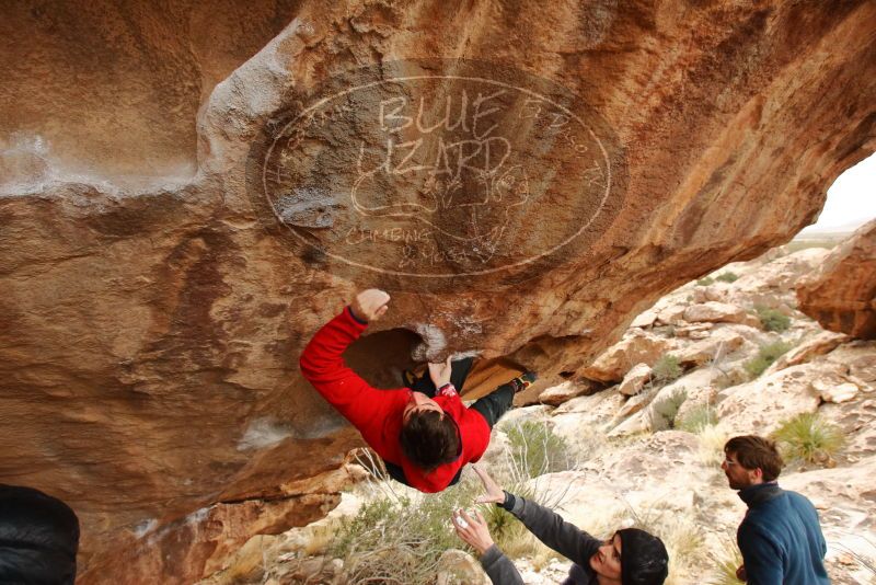
<svg viewBox="0 0 876 585"><path fill-rule="evenodd" d="M523 421L508 427L506 434L512 466L522 470L527 478L575 467L568 443L545 422Z"/></svg>

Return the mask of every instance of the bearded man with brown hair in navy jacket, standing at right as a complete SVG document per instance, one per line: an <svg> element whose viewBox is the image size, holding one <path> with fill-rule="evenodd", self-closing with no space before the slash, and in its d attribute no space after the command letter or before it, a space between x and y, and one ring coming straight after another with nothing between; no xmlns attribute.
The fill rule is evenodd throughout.
<svg viewBox="0 0 876 585"><path fill-rule="evenodd" d="M827 543L818 513L803 495L779 487L784 462L775 443L756 435L724 445L721 468L731 490L748 505L736 532L740 581L757 585L823 585Z"/></svg>

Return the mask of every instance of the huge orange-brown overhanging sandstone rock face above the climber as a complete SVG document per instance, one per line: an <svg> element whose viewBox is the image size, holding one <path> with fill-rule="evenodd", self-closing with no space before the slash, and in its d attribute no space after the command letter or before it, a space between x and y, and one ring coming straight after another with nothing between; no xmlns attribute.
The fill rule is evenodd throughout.
<svg viewBox="0 0 876 585"><path fill-rule="evenodd" d="M0 481L77 511L82 583L214 566L197 511L331 505L301 485L360 441L297 358L356 288L393 296L349 354L376 383L576 374L872 150L863 0L242 5L0 22Z"/></svg>

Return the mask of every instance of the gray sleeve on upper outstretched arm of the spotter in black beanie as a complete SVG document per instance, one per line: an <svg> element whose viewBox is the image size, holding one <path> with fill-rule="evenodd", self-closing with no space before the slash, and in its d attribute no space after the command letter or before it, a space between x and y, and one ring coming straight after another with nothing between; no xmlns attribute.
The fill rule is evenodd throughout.
<svg viewBox="0 0 876 585"><path fill-rule="evenodd" d="M539 540L581 566L588 566L590 557L601 544L601 541L565 521L555 512L519 495L515 496L514 508L510 512Z"/></svg>

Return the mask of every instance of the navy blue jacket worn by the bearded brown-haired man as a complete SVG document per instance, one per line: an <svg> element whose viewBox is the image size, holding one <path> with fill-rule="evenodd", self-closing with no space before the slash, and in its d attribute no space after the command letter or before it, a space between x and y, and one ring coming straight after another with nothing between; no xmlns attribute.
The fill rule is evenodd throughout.
<svg viewBox="0 0 876 585"><path fill-rule="evenodd" d="M827 544L818 513L806 497L775 482L746 487L748 513L736 541L749 585L827 585Z"/></svg>

